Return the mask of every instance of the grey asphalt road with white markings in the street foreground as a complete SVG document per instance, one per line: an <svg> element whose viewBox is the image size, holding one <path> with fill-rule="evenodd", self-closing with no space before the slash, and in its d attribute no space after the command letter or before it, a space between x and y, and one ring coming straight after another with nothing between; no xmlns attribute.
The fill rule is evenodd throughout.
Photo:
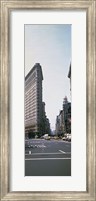
<svg viewBox="0 0 96 201"><path fill-rule="evenodd" d="M71 176L71 143L30 139L25 149L25 176Z"/></svg>

